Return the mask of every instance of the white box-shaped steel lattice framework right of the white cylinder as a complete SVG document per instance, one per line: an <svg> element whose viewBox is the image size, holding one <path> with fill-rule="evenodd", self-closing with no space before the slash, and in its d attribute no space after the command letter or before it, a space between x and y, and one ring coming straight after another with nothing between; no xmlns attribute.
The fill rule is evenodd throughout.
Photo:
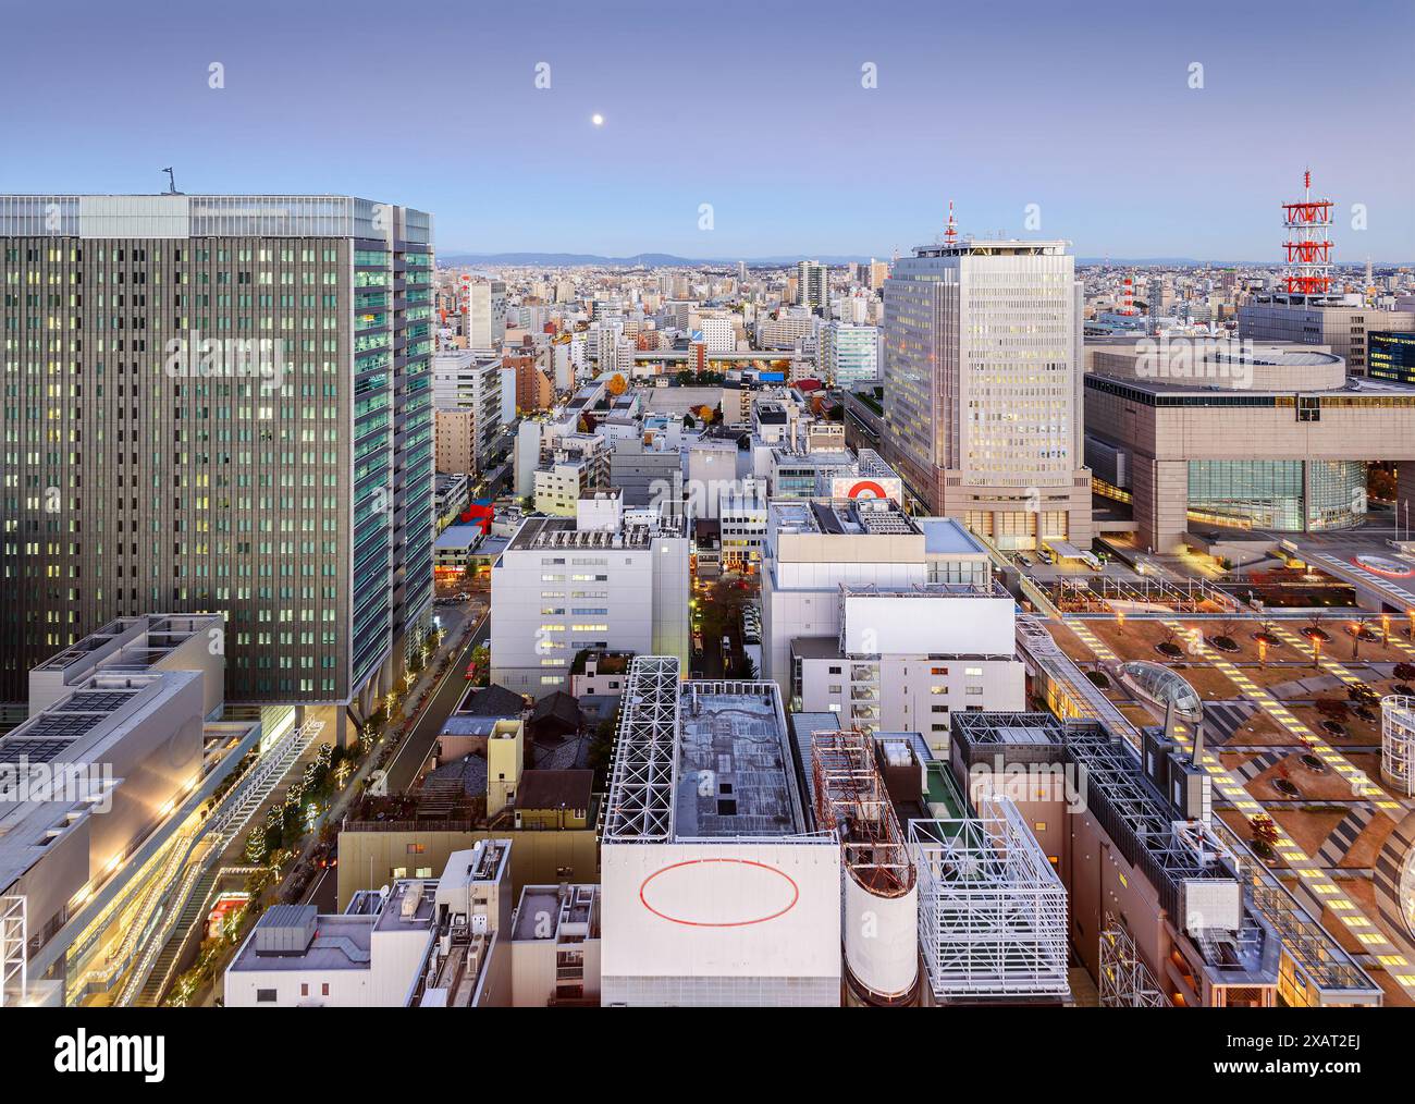
<svg viewBox="0 0 1415 1104"><path fill-rule="evenodd" d="M1065 889L1012 801L976 808L908 825L934 998L1068 999Z"/></svg>

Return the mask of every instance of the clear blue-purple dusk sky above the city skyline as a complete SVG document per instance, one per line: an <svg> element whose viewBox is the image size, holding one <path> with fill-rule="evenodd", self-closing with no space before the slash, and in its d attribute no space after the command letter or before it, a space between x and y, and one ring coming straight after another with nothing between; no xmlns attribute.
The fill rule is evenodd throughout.
<svg viewBox="0 0 1415 1104"><path fill-rule="evenodd" d="M174 166L430 211L443 255L720 259L907 252L951 198L1078 256L1278 262L1310 167L1339 262L1415 259L1411 0L6 7L0 192Z"/></svg>

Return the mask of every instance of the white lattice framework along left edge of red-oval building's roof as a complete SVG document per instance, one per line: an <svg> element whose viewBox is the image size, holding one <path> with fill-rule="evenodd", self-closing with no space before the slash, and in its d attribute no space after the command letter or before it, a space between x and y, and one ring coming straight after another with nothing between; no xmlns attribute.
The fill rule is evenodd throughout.
<svg viewBox="0 0 1415 1104"><path fill-rule="evenodd" d="M614 742L604 841L666 842L674 835L678 783L679 667L674 655L638 655L630 665Z"/></svg>

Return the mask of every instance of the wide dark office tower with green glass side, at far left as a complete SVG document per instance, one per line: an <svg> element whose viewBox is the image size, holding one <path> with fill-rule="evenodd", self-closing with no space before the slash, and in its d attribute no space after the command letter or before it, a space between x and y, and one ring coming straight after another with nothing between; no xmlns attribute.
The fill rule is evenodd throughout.
<svg viewBox="0 0 1415 1104"><path fill-rule="evenodd" d="M215 611L228 701L368 713L432 606L432 260L352 197L0 197L0 701Z"/></svg>

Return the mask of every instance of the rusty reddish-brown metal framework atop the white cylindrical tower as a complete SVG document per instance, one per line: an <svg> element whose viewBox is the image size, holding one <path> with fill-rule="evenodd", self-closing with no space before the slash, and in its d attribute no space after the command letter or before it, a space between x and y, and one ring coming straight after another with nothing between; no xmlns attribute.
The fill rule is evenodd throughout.
<svg viewBox="0 0 1415 1104"><path fill-rule="evenodd" d="M873 752L857 729L811 735L815 820L839 832L850 878L877 897L900 897L914 887L914 863Z"/></svg>

